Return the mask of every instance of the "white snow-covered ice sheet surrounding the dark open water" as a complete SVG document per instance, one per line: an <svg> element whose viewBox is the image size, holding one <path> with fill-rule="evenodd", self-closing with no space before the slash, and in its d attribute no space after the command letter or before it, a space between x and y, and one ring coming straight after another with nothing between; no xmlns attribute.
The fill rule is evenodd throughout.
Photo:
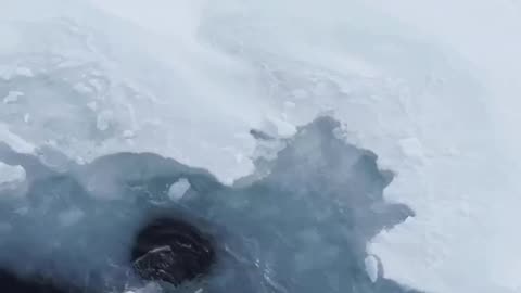
<svg viewBox="0 0 521 293"><path fill-rule="evenodd" d="M396 171L385 198L416 214L368 245L379 273L427 292L517 293L520 11L514 0L4 0L0 140L54 169L149 151L226 183L253 173L247 184L270 167L253 158L326 113ZM117 198L100 181L90 192Z"/></svg>

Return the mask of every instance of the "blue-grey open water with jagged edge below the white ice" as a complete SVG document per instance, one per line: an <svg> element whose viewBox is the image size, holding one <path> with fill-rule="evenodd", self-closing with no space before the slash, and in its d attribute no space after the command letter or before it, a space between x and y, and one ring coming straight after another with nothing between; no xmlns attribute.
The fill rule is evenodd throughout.
<svg viewBox="0 0 521 293"><path fill-rule="evenodd" d="M136 271L132 247L140 231L166 218L189 224L204 241L187 238L192 228L185 226L166 233L185 239L173 249L179 255L188 245L198 256L163 262L166 271L177 264L176 280L191 280L160 282L157 292L417 292L382 271L372 282L365 270L367 242L414 213L383 200L392 173L379 170L373 153L336 138L338 127L322 117L300 128L275 160L257 160L257 174L233 187L150 153L107 155L81 166L62 161L56 170L2 146L0 161L24 166L27 181L0 194L0 288L20 280L46 283L30 292L142 286L150 275ZM190 188L173 201L168 189L181 178ZM211 258L201 256L208 245ZM161 257L145 264L153 267Z"/></svg>

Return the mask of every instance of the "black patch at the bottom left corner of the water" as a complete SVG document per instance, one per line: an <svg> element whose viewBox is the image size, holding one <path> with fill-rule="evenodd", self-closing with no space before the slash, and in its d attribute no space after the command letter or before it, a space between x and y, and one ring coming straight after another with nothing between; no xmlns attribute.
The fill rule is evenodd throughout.
<svg viewBox="0 0 521 293"><path fill-rule="evenodd" d="M59 289L53 282L40 277L18 277L0 269L0 292L5 293L69 293Z"/></svg>

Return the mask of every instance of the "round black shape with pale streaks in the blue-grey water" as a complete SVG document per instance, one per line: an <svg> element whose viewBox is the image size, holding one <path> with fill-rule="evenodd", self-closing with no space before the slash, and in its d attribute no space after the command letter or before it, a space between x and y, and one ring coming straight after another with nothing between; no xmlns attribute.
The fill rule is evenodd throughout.
<svg viewBox="0 0 521 293"><path fill-rule="evenodd" d="M211 240L194 226L160 218L139 231L131 260L141 278L178 285L207 273L215 252Z"/></svg>

